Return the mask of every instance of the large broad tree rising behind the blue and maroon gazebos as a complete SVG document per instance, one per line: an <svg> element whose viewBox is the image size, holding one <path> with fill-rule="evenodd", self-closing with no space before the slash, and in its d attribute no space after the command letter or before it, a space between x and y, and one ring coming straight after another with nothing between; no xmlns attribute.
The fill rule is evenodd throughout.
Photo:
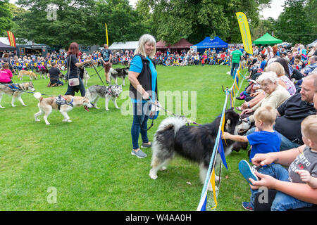
<svg viewBox="0 0 317 225"><path fill-rule="evenodd" d="M259 6L271 0L139 0L151 6L157 39L174 44L182 37L197 43L218 35L226 41L241 42L235 13L242 11L249 23L259 23ZM143 4L144 4L143 3Z"/></svg>

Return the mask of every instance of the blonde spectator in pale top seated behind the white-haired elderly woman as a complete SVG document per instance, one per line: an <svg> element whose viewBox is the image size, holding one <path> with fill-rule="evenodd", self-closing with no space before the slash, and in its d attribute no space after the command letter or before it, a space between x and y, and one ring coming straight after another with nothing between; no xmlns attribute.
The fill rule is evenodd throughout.
<svg viewBox="0 0 317 225"><path fill-rule="evenodd" d="M278 84L283 86L291 96L293 96L296 92L295 85L290 81L290 79L285 75L285 70L280 63L273 62L268 65L265 72L272 71L278 75Z"/></svg>

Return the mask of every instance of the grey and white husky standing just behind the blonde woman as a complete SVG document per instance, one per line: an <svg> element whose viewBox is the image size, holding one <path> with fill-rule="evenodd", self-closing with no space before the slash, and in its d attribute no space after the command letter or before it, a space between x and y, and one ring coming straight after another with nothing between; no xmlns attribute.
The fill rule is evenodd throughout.
<svg viewBox="0 0 317 225"><path fill-rule="evenodd" d="M97 102L100 97L105 98L105 108L108 111L108 103L110 99L113 101L115 107L119 109L117 105L117 98L120 96L122 91L122 85L118 84L112 84L109 86L94 85L87 89L85 96L89 99L89 102L94 105L94 108L98 108Z"/></svg>

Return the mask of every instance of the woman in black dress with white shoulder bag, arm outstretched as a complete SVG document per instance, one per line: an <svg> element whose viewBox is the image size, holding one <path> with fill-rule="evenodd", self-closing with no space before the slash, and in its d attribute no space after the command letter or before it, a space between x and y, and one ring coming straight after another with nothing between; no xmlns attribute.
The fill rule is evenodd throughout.
<svg viewBox="0 0 317 225"><path fill-rule="evenodd" d="M68 89L65 95L75 96L75 91L80 91L82 97L85 96L85 86L80 77L79 68L87 63L90 63L91 60L85 60L79 62L78 60L79 47L76 42L70 44L67 52L67 68L68 68Z"/></svg>

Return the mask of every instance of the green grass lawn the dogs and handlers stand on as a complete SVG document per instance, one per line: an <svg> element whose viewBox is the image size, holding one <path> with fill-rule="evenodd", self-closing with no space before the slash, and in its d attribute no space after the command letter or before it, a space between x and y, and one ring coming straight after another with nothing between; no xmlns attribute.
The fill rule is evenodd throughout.
<svg viewBox="0 0 317 225"><path fill-rule="evenodd" d="M221 85L232 85L226 74L229 70L224 65L157 66L159 91L197 91L196 100L189 94L189 103L197 102L195 121L212 122L225 101ZM88 72L94 74L92 68ZM100 75L104 79L103 70ZM23 82L28 81L23 77ZM19 82L16 76L13 82ZM65 94L67 89L66 85L47 88L47 79L33 83L37 91L49 95ZM88 86L93 84L102 85L97 75L89 79ZM128 77L125 84L123 90L128 91ZM109 111L104 110L103 99L99 100L99 110L93 108L88 113L82 107L74 108L68 113L70 123L62 122L63 116L54 110L47 126L42 116L41 122L35 122L37 99L32 94L22 98L26 107L17 100L17 107L12 108L11 96L4 96L1 102L6 108L0 110L0 210L197 209L203 187L198 166L175 158L165 172L158 173L158 179L150 179L151 149L144 150L147 158L143 159L130 154L132 115L123 115L112 101ZM119 107L127 108L128 103L127 96L118 99ZM175 110L175 105L170 110ZM160 113L149 130L150 141L167 116ZM247 181L237 169L242 159L247 159L246 150L227 157L228 170L222 169L216 210L242 210L242 200L249 200ZM47 200L50 187L56 190L56 203Z"/></svg>

